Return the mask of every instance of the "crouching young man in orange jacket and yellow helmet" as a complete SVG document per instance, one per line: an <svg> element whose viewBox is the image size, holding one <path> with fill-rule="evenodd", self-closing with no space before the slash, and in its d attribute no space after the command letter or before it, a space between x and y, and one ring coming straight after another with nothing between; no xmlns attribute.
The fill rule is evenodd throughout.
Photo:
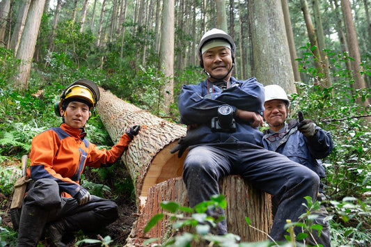
<svg viewBox="0 0 371 247"><path fill-rule="evenodd" d="M85 166L108 167L123 154L140 126L129 127L111 150L99 150L85 139L84 127L100 99L93 81L80 79L61 95L55 110L63 118L60 127L47 129L33 138L32 181L22 205L18 246L37 246L45 229L51 246L65 246L63 236L77 230L96 230L118 218L115 202L90 195L79 184Z"/></svg>

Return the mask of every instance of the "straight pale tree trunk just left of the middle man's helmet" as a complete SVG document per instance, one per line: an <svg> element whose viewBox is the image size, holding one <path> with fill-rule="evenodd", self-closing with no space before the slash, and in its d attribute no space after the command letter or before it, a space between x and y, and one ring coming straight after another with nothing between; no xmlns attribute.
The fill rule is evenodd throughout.
<svg viewBox="0 0 371 247"><path fill-rule="evenodd" d="M164 0L162 14L161 44L160 44L160 66L164 72L166 81L164 83L164 113L170 113L170 106L174 102L174 0Z"/></svg>

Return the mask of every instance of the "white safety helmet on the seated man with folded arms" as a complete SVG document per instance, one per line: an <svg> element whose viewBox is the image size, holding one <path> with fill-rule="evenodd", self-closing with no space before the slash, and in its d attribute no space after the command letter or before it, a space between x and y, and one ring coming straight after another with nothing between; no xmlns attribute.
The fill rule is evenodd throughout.
<svg viewBox="0 0 371 247"><path fill-rule="evenodd" d="M230 44L230 51L232 54L232 61L235 63L235 50L236 45L233 41L232 37L228 35L225 31L220 29L211 29L210 31L207 31L203 37L200 40L200 44L198 44L198 57L200 58L200 66L203 68L203 54L202 54L202 48L207 42L210 40L225 40Z"/></svg>

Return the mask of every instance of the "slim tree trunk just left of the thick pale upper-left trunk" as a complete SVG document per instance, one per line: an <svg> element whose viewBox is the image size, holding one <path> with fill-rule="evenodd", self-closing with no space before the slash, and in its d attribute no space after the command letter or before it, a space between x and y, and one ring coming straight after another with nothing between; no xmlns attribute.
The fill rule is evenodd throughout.
<svg viewBox="0 0 371 247"><path fill-rule="evenodd" d="M31 0L23 0L19 6L17 22L15 23L12 38L10 39L9 48L13 49L14 54L17 54L19 41L22 37L24 24L26 23L27 13L29 12Z"/></svg>

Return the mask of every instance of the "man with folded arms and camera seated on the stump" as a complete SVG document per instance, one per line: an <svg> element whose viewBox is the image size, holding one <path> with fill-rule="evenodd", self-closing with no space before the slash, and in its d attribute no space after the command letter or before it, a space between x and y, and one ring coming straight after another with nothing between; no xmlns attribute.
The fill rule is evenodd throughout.
<svg viewBox="0 0 371 247"><path fill-rule="evenodd" d="M255 78L246 81L231 76L235 43L219 29L207 31L198 45L200 66L207 79L197 85L184 85L178 97L180 120L188 126L171 152L184 160L182 178L187 186L189 204L194 207L219 194L221 177L237 174L262 191L279 196L277 216L271 237L285 241L287 219L293 222L305 212L305 196L315 198L318 175L276 152L262 147L264 88ZM246 198L248 200L248 198ZM223 210L207 212L218 218ZM226 221L217 224L217 233L227 232Z"/></svg>

